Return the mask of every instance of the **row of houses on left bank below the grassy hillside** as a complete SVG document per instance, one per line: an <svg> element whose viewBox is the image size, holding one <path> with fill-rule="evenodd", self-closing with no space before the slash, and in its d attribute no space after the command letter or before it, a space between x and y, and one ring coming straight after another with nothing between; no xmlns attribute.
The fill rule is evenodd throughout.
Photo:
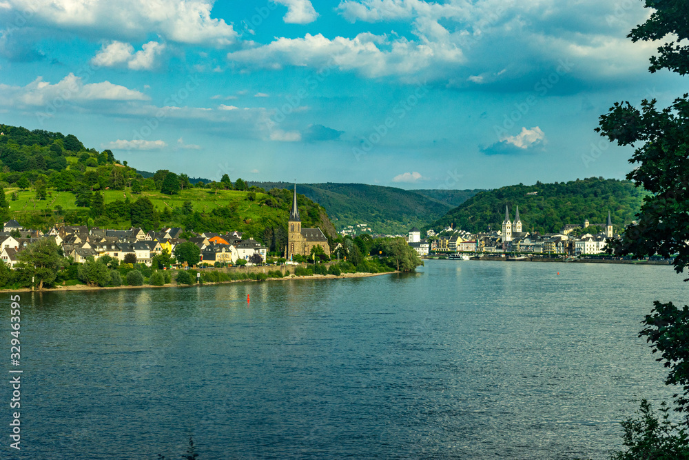
<svg viewBox="0 0 689 460"><path fill-rule="evenodd" d="M236 263L239 259L252 263L251 261L257 260L255 254L260 255L261 261L265 261L267 257L265 246L252 238L242 239L240 232L205 232L194 234L189 239L181 238L182 234L181 228L145 232L141 228L105 230L86 226L59 226L44 234L40 230L25 230L17 221L8 221L3 224L3 231L0 232L0 259L14 268L18 262L17 254L30 243L43 238L53 239L62 248L65 257L75 263L83 263L89 257L98 259L104 255L124 261L127 254L134 254L138 263L150 266L157 254L163 251L173 254L178 244L187 241L198 246L199 263Z"/></svg>

